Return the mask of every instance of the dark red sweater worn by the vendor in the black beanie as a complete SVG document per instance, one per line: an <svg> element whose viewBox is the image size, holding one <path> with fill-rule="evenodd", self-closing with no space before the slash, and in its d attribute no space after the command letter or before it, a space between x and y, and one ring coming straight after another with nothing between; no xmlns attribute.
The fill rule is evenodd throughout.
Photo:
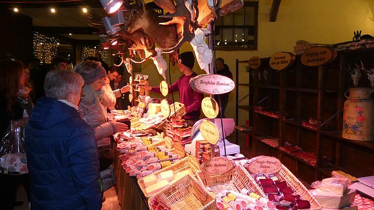
<svg viewBox="0 0 374 210"><path fill-rule="evenodd" d="M189 76L183 74L175 83L169 86L169 93L179 91L181 103L186 106L187 114L184 117L185 120L200 117L203 94L194 91L189 85L189 80L195 76L197 76L197 73L195 72L193 72ZM151 91L155 93L161 93L160 88L152 88Z"/></svg>

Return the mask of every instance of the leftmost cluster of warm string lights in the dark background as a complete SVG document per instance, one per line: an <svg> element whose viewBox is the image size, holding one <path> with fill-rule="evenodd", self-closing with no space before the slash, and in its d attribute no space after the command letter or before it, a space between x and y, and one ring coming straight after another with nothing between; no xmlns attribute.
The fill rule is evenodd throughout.
<svg viewBox="0 0 374 210"><path fill-rule="evenodd" d="M52 36L34 32L34 57L39 58L40 63L51 63L52 59L57 56L57 43L58 40Z"/></svg>

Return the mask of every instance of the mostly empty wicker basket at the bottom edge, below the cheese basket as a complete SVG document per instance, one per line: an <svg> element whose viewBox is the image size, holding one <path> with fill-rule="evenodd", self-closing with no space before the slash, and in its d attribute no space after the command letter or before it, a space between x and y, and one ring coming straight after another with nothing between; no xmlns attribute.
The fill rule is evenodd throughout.
<svg viewBox="0 0 374 210"><path fill-rule="evenodd" d="M206 192L206 200L200 200L201 196L199 194L201 192L197 192L195 186L206 192L196 178L186 175L152 196L148 200L148 207L153 210L151 204L157 199L166 204L171 210L215 210L216 199Z"/></svg>

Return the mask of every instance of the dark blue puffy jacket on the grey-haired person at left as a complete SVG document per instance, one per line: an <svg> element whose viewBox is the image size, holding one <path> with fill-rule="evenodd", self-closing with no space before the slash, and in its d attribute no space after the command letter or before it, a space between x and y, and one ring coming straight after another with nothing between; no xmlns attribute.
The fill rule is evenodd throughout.
<svg viewBox="0 0 374 210"><path fill-rule="evenodd" d="M26 127L31 210L100 210L93 129L63 102L40 98Z"/></svg>

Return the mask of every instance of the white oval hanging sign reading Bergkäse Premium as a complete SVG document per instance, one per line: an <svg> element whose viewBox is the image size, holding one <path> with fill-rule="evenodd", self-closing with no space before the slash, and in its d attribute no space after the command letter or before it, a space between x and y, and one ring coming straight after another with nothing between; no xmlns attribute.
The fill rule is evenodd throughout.
<svg viewBox="0 0 374 210"><path fill-rule="evenodd" d="M228 93L235 88L232 79L219 74L202 74L191 78L189 85L195 91L205 94L223 94Z"/></svg>

